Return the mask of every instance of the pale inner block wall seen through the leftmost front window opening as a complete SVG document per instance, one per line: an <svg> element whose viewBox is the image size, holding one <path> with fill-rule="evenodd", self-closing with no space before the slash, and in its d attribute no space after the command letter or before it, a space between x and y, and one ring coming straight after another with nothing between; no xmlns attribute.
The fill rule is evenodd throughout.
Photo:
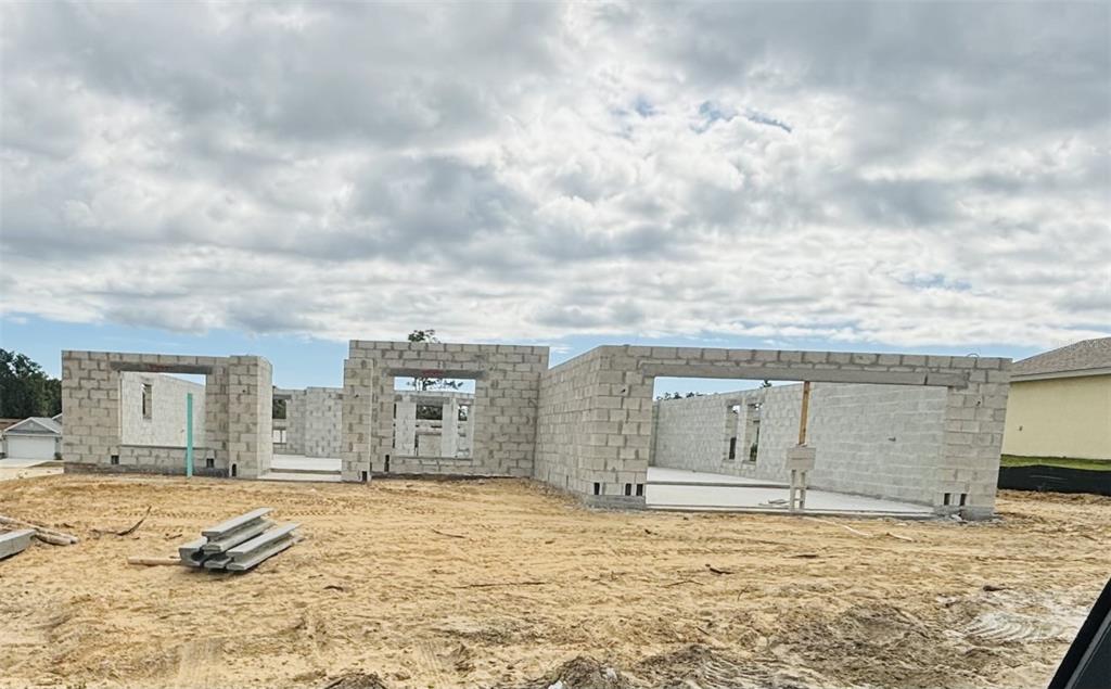
<svg viewBox="0 0 1111 689"><path fill-rule="evenodd" d="M142 390L151 390L150 418ZM204 386L160 373L120 373L120 441L124 445L186 446L186 395L193 396L193 447L204 447Z"/></svg>

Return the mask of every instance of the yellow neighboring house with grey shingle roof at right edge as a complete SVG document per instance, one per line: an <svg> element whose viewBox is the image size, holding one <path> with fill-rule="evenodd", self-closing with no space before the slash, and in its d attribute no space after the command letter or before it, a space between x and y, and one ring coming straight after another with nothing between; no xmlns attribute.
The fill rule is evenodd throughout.
<svg viewBox="0 0 1111 689"><path fill-rule="evenodd" d="M1011 367L1003 453L1111 460L1111 338Z"/></svg>

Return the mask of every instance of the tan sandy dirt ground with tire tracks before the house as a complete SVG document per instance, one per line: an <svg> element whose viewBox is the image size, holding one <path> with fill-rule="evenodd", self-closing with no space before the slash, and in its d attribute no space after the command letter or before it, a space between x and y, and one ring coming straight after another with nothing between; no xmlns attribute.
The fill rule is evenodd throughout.
<svg viewBox="0 0 1111 689"><path fill-rule="evenodd" d="M148 506L133 535L94 535ZM126 563L256 507L306 540L247 575ZM0 562L0 687L1040 688L1111 570L1111 499L1005 492L999 511L602 512L512 480L4 481L0 513L83 540Z"/></svg>

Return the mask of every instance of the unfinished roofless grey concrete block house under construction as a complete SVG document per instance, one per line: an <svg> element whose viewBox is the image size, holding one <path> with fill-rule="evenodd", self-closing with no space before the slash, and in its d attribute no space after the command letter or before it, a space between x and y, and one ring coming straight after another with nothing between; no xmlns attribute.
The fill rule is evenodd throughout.
<svg viewBox="0 0 1111 689"><path fill-rule="evenodd" d="M342 389L287 390L272 387L261 357L64 351L62 455L69 471L518 477L607 507L983 518L994 506L1009 367L607 346L549 368L546 347L354 340ZM142 397L130 387L174 373L204 378L189 392L201 418L184 446L147 442L124 428L121 408ZM657 378L792 385L653 400ZM399 385L407 380L457 388Z"/></svg>

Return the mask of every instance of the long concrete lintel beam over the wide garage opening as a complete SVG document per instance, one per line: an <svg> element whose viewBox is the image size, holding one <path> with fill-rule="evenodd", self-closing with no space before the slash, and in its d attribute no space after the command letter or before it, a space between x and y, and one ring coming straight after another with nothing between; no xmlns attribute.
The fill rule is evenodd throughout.
<svg viewBox="0 0 1111 689"><path fill-rule="evenodd" d="M935 386L963 388L967 372L942 373L925 371L870 371L861 369L808 368L795 366L751 366L742 363L652 363L642 361L639 369L658 378L729 378L735 380L798 380L811 382L854 382L884 386Z"/></svg>

